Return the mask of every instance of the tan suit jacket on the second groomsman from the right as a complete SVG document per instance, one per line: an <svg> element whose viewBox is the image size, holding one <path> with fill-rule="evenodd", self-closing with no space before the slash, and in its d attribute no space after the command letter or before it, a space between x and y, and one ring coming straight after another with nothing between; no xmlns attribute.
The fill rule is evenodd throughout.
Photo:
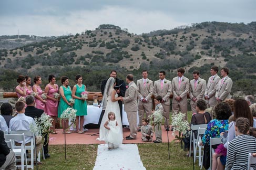
<svg viewBox="0 0 256 170"><path fill-rule="evenodd" d="M208 95L207 104L209 104L210 107L213 107L213 105L216 103L215 94L219 80L220 77L217 74L214 76L214 79L212 79L212 76L208 79L206 92L204 95Z"/></svg>

